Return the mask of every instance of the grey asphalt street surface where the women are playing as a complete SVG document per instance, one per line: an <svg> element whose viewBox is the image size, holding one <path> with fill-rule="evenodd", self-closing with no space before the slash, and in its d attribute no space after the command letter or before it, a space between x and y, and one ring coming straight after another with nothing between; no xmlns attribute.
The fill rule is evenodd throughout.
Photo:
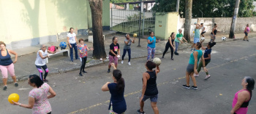
<svg viewBox="0 0 256 114"><path fill-rule="evenodd" d="M242 88L242 78L252 76L256 79L255 43L256 38L251 38L249 42L230 41L214 46L211 55L212 60L207 66L212 77L208 81L204 81L205 73L200 72L200 77L197 78L198 90L181 87L182 84L185 84L185 70L191 52L188 49L183 52L180 51L180 55L175 56L174 61L170 60L170 53L166 54L160 66L161 72L157 77L159 113L229 113L234 94ZM157 55L157 57L162 57L162 55ZM122 71L126 81L125 99L127 101L126 113L128 114L135 114L139 108L141 78L142 73L146 71L145 62L146 58L142 57L132 59L131 66L118 65L118 69ZM107 69L107 63L105 63L86 68L89 73L83 77L78 76L78 70L48 76L50 86L57 93L56 97L50 99L53 113L108 113L110 93L100 90L106 81L112 81L111 74L106 73ZM12 106L7 102L8 95L14 92L20 94L19 102L28 102L31 87L26 81L19 82L19 84L18 88L8 84L8 91L0 90L1 113L31 113L29 109ZM249 103L248 113L256 112L255 99L256 96L253 95L252 101ZM144 110L147 114L153 113L149 101L146 102Z"/></svg>

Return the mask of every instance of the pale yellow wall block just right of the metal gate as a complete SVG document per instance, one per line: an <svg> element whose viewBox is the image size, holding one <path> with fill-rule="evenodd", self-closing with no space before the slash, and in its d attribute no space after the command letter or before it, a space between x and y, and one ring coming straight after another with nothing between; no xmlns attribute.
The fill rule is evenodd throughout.
<svg viewBox="0 0 256 114"><path fill-rule="evenodd" d="M178 12L156 13L155 36L161 39L170 37L170 33L176 32L178 26Z"/></svg>

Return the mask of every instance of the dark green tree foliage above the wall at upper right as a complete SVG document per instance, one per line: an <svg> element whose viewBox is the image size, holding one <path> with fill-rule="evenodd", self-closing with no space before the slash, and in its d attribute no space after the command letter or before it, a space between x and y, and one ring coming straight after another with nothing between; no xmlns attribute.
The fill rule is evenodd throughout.
<svg viewBox="0 0 256 114"><path fill-rule="evenodd" d="M255 17L256 12L253 11L255 6L253 1L256 0L241 0L238 10L238 17ZM156 0L153 8L156 12L176 12L176 0ZM235 8L234 0L193 0L192 2L192 17L232 17ZM185 0L180 0L179 14L182 16L185 12ZM200 10L202 12L200 12ZM183 13L182 13L183 12Z"/></svg>

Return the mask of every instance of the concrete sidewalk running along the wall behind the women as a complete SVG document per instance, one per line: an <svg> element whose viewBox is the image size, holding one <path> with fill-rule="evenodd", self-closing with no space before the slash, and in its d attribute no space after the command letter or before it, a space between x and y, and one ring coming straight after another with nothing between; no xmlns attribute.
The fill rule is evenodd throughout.
<svg viewBox="0 0 256 114"><path fill-rule="evenodd" d="M109 45L112 43L112 38L113 36L118 37L118 44L120 44L120 49L121 49L121 54L123 53L123 46L124 46L124 35L116 34L115 31L104 31L105 34L105 51L108 55L109 52ZM256 37L256 33L250 33L249 38L252 38L253 36ZM221 43L222 36L217 36L216 42ZM228 36L225 36L228 37ZM236 39L235 40L241 40L241 38L244 37L244 34L236 34ZM78 37L78 38L84 38L87 39L86 37ZM193 40L193 39L192 39ZM233 41L234 39L227 38L227 41ZM250 39L249 39L250 40ZM56 43L50 43L50 44L45 44L46 46L59 46L59 43L61 41L67 41L66 39L62 39ZM210 37L206 36L205 43L210 41ZM226 41L226 42L227 42ZM156 44L157 46L157 54L162 54L165 50L165 44L167 41L160 41L159 43ZM89 47L92 47L92 44L89 42L86 42L86 44ZM140 46L138 47L138 38L136 38L135 44L132 44L132 58L140 58L140 57L146 57L147 56L147 41L146 38L141 38L140 40ZM191 44L180 44L179 50L184 50L188 49L191 46ZM15 52L18 53L18 62L15 63L15 75L17 76L18 81L23 81L28 78L29 75L31 74L37 74L37 68L35 68L34 65L34 60L36 60L36 52L39 50L39 46L31 46L31 47L26 47L24 49L16 49L14 50ZM74 52L75 53L75 52ZM167 52L170 53L170 50ZM128 57L126 56L125 59ZM121 58L120 58L121 59ZM119 60L120 60L119 59ZM105 60L104 62L108 62L108 60ZM86 68L94 66L94 65L99 65L102 64L102 61L95 60L92 58L92 52L89 52L89 58L88 58L88 63L86 64ZM127 62L124 62L127 64ZM62 54L56 54L54 56L51 56L49 59L48 69L49 73L63 73L67 72L70 70L78 70L80 68L80 60L75 60L74 62L70 62L69 57L64 57ZM26 68L24 68L26 66ZM1 77L0 77L1 78ZM12 79L9 78L8 82L12 82ZM0 81L0 84L2 84L2 81Z"/></svg>

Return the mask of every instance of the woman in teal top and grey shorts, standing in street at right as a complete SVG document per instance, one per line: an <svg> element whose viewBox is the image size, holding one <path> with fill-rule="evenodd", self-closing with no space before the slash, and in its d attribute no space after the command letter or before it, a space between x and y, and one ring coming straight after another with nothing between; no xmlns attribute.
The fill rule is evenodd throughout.
<svg viewBox="0 0 256 114"><path fill-rule="evenodd" d="M206 69L206 65L205 65L205 59L203 57L203 52L202 50L200 50L200 47L202 46L202 44L200 42L197 42L197 44L195 45L195 52L192 52L192 54L190 54L190 58L189 58L189 65L187 65L187 72L186 72L186 81L187 84L182 85L184 88L186 89L190 89L189 86L189 78L192 78L192 81L194 83L194 86L191 86L192 89L197 90L197 81L195 81L195 76L194 73L197 75L197 64L200 60L200 58L202 58L202 62L203 62L203 69L207 72Z"/></svg>

